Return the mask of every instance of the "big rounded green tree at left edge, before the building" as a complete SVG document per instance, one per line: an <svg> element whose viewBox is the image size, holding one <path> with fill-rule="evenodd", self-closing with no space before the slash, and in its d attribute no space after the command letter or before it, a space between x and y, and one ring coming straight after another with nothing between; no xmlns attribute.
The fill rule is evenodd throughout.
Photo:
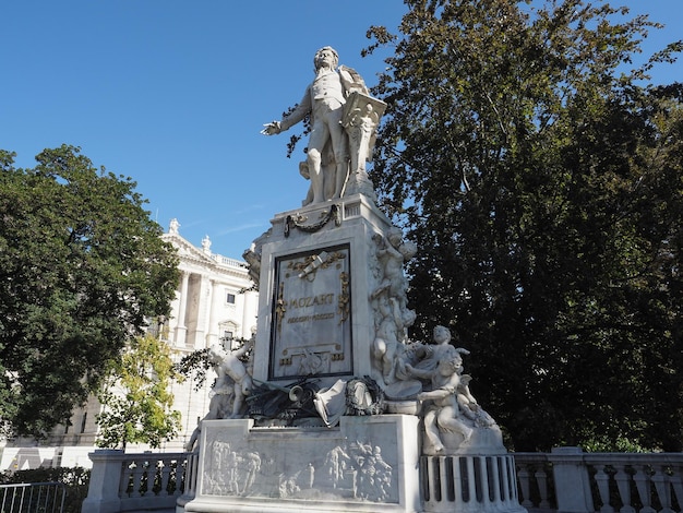
<svg viewBox="0 0 683 513"><path fill-rule="evenodd" d="M32 169L0 151L0 418L46 436L98 389L146 319L168 315L177 255L130 178L73 146Z"/></svg>

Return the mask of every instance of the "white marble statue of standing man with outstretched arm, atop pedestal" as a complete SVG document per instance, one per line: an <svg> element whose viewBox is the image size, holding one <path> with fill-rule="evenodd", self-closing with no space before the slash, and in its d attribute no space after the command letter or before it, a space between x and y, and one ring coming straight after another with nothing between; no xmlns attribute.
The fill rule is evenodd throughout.
<svg viewBox="0 0 683 513"><path fill-rule="evenodd" d="M354 70L340 67L337 71L338 62L339 56L332 47L317 50L313 58L315 80L307 87L301 102L281 121L264 124L265 129L261 132L274 135L297 124L307 115L311 116L307 156L312 192L310 203L342 196L349 162L348 139L342 127L344 104L352 91L368 93L362 79ZM323 155L327 144L332 144L334 154L333 177L325 177L323 174ZM325 179L331 179L334 183L334 193L329 196L325 194Z"/></svg>

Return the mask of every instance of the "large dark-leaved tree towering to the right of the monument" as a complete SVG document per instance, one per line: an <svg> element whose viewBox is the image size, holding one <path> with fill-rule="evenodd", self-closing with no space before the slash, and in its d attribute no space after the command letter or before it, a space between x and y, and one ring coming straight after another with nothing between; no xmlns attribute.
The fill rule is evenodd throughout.
<svg viewBox="0 0 683 513"><path fill-rule="evenodd" d="M631 70L644 16L579 0L415 0L375 94L372 179L420 248L414 335L450 324L517 450L680 451L681 84ZM595 444L594 444L595 445Z"/></svg>

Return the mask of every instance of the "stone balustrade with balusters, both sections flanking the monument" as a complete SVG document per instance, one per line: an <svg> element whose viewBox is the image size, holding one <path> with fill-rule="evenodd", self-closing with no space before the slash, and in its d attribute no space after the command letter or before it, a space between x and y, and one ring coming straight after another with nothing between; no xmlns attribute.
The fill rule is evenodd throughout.
<svg viewBox="0 0 683 513"><path fill-rule="evenodd" d="M683 453L512 453L530 513L682 513ZM196 453L95 451L83 513L175 512L194 497Z"/></svg>

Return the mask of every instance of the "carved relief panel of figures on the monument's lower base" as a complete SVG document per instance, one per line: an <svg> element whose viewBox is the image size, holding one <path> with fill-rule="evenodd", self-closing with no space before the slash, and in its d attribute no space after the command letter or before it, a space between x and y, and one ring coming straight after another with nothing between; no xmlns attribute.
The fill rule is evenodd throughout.
<svg viewBox="0 0 683 513"><path fill-rule="evenodd" d="M390 433L381 445L329 438L268 438L256 443L212 431L201 493L396 503L398 457L392 438Z"/></svg>

